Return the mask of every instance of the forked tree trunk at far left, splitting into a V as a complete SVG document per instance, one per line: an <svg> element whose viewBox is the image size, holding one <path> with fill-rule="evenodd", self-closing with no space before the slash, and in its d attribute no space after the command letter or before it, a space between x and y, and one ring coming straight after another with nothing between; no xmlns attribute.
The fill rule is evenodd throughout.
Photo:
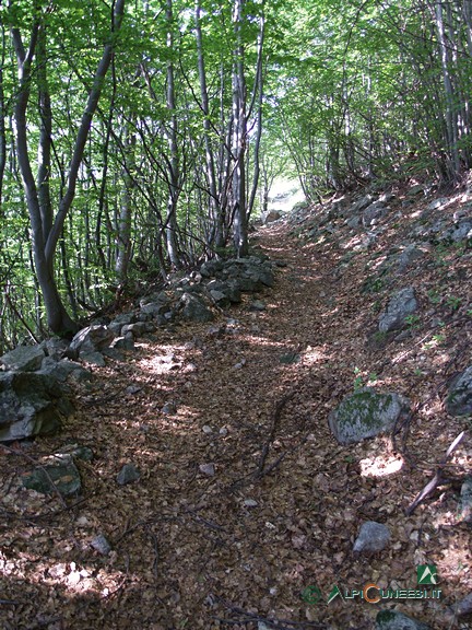
<svg viewBox="0 0 472 630"><path fill-rule="evenodd" d="M120 28L125 11L125 2L126 0L117 0L115 3L111 25L113 32L117 32ZM45 191L48 194L48 185L44 187L45 184L48 184L49 177L46 168L47 155L43 156L43 163L39 164L38 168L38 185L39 188L42 188L42 190L39 190L33 175L27 143L26 109L30 102L32 82L34 80L34 74L32 72L33 60L35 55L38 55L40 58L46 55L47 50L47 16L42 14L40 9L40 4L37 3L35 7L35 18L30 33L27 48L24 47L20 30L17 27L11 30L20 80L14 107L15 140L19 165L30 212L36 275L43 292L48 326L54 332L70 335L78 329L78 325L67 313L60 296L54 272L54 260L57 245L62 234L63 224L75 195L79 168L82 162L86 140L88 138L92 118L102 94L104 79L111 61L115 44L114 33L111 33L109 42L105 45L102 59L96 69L87 103L75 137L73 154L69 164L66 191L59 202L56 218L52 220L51 214L47 214L47 206L42 206L42 201L46 202ZM46 62L47 59L44 59L44 61ZM44 77L46 77L46 70L44 72ZM38 93L40 113L45 115L45 119L42 121L40 142L44 143L47 151L48 144L50 147L50 129L48 128L48 107L50 107L50 105L48 104L48 97L46 95L47 85L42 84L40 77Z"/></svg>

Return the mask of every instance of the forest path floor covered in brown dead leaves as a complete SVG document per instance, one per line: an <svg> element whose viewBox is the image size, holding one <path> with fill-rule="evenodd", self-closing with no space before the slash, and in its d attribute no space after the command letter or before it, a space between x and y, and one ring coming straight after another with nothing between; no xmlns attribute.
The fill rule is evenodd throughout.
<svg viewBox="0 0 472 630"><path fill-rule="evenodd" d="M0 455L2 629L370 630L379 608L391 607L432 629L472 627L445 616L472 591L460 486L404 513L469 428L442 401L470 361L472 319L462 306L445 310L440 339L416 322L404 340L369 343L379 295L363 287L373 252L339 275L339 241L306 242L292 228L279 222L256 235L286 264L260 296L266 311L250 311L248 299L220 314L220 328L180 324L140 339L126 362L94 369L60 434ZM400 237L390 226L375 252ZM413 283L427 310L426 289L447 281L464 305L470 254L455 256L415 266L399 285ZM461 266L465 280L451 275ZM340 446L328 415L367 382L411 399L409 430ZM163 412L166 402L174 413ZM95 454L80 464L82 497L64 502L15 486L32 460L71 442ZM468 433L450 475L470 471L471 456ZM120 487L129 462L141 479ZM353 553L365 521L390 528L385 551ZM108 556L91 547L99 534ZM327 603L334 585L414 590L426 563L437 567L440 600Z"/></svg>

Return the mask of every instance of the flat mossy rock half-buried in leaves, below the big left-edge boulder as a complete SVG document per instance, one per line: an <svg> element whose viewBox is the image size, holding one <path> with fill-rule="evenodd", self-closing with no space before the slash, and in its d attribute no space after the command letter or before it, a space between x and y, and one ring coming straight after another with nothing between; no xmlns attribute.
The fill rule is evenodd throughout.
<svg viewBox="0 0 472 630"><path fill-rule="evenodd" d="M40 467L23 476L22 483L42 494L58 491L62 497L76 494L82 489L80 472L72 456L67 453L45 457Z"/></svg>

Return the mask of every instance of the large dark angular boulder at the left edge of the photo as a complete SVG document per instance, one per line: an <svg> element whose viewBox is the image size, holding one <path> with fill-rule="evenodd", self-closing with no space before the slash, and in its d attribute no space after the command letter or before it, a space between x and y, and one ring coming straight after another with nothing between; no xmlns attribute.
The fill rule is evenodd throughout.
<svg viewBox="0 0 472 630"><path fill-rule="evenodd" d="M0 442L55 433L72 410L68 389L50 374L0 374Z"/></svg>

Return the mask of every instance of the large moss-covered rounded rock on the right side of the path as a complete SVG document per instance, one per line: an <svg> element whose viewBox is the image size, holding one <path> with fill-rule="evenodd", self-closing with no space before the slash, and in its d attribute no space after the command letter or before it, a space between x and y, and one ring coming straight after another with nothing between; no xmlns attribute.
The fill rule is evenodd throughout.
<svg viewBox="0 0 472 630"><path fill-rule="evenodd" d="M391 430L408 409L409 401L402 396L364 387L346 396L328 421L338 442L351 444Z"/></svg>

